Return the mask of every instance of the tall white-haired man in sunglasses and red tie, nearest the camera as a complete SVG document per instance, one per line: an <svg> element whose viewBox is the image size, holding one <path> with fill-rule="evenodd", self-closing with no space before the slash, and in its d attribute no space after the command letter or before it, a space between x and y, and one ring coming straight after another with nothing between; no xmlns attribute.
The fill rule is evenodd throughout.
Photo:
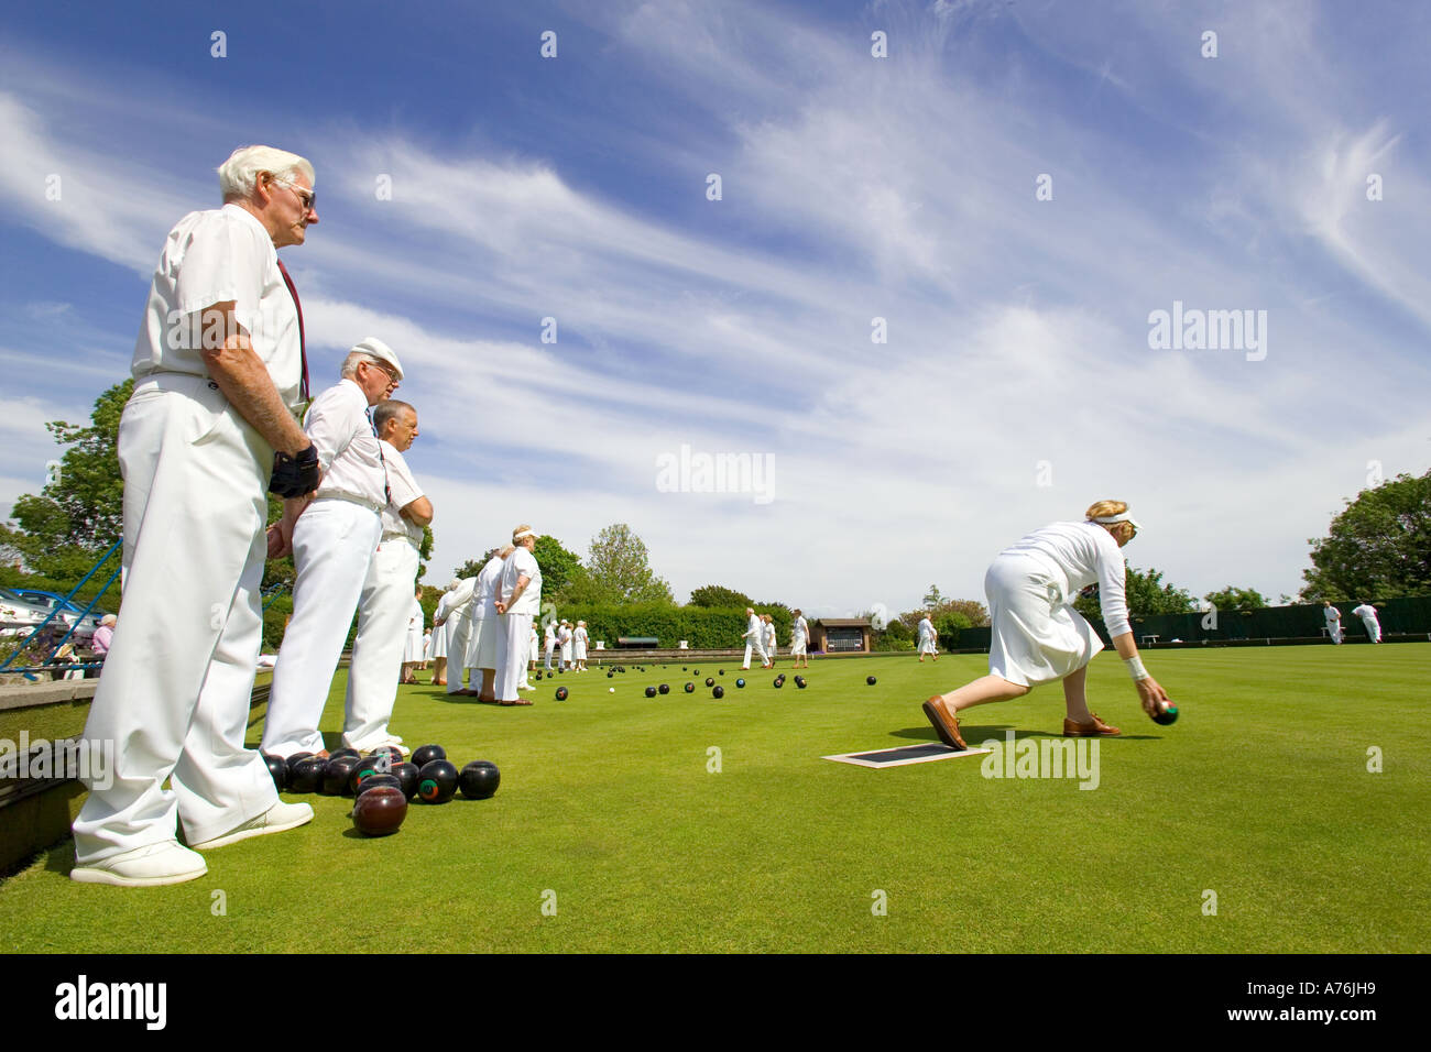
<svg viewBox="0 0 1431 1052"><path fill-rule="evenodd" d="M293 415L308 399L303 316L276 252L318 222L313 166L245 146L219 167L219 189L223 208L190 212L165 242L119 424L124 621L84 740L122 749L74 820L70 876L86 883L193 880L207 872L200 850L313 817L278 799L263 757L243 746L263 627L263 491L318 485Z"/></svg>

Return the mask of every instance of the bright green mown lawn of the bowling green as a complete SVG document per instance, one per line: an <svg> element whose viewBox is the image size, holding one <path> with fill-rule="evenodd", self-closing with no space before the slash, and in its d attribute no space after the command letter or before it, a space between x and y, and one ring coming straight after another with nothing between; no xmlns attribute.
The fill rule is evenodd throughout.
<svg viewBox="0 0 1431 1052"><path fill-rule="evenodd" d="M1125 734L1099 743L1092 792L986 779L975 757L820 759L932 741L919 703L983 657L816 661L803 691L758 671L737 690L733 663L701 666L721 701L681 693L680 666L561 676L565 703L544 680L529 708L404 688L394 730L458 766L494 760L494 799L414 806L396 836L368 840L349 833L348 800L303 797L312 824L213 850L206 877L163 889L76 885L63 844L0 885L0 948L332 950L381 932L394 952L1431 949L1431 646L1146 661L1182 719L1151 723L1099 656L1092 707ZM663 681L671 694L643 696ZM339 676L325 729L342 690ZM1062 711L1045 687L973 710L964 736L1042 740Z"/></svg>

